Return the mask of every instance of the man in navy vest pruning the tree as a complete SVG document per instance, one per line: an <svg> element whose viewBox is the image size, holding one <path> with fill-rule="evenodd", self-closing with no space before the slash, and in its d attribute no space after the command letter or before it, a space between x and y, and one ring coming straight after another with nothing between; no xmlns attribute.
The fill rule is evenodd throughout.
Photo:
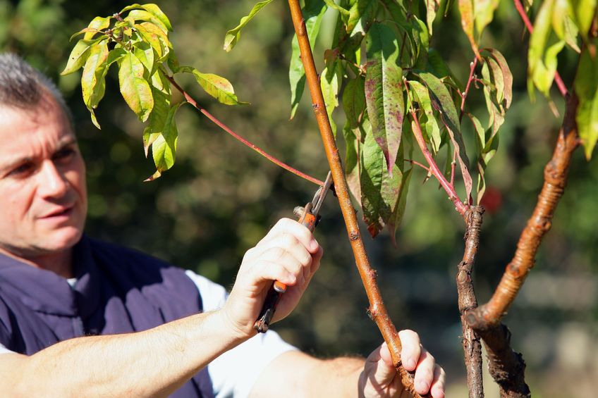
<svg viewBox="0 0 598 398"><path fill-rule="evenodd" d="M231 293L150 256L83 235L85 165L56 87L0 56L0 396L392 397L384 344L367 360L315 359L256 336L271 280L298 303L322 248L284 219L244 256ZM401 332L418 392L444 397L444 371Z"/></svg>

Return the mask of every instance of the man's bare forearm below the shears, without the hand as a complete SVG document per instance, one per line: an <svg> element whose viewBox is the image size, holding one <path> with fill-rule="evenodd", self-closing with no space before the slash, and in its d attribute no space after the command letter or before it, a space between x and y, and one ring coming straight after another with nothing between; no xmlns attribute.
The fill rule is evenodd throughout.
<svg viewBox="0 0 598 398"><path fill-rule="evenodd" d="M219 311L144 332L78 337L32 356L0 356L0 395L166 396L242 341Z"/></svg>

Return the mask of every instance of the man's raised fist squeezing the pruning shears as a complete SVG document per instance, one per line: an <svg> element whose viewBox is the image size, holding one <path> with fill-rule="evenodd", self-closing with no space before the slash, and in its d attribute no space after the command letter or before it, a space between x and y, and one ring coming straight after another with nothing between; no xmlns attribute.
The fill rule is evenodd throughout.
<svg viewBox="0 0 598 398"><path fill-rule="evenodd" d="M283 282L288 288L281 297L273 321L291 313L319 267L322 253L310 230L289 218L279 220L243 257L223 309L233 332L238 337L255 334L253 323L274 280Z"/></svg>

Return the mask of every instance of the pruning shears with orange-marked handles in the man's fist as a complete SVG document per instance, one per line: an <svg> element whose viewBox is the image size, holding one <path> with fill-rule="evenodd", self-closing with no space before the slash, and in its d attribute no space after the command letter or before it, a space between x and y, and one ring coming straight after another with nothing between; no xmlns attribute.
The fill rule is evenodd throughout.
<svg viewBox="0 0 598 398"><path fill-rule="evenodd" d="M293 211L295 216L299 217L298 222L301 225L305 225L305 228L310 230L310 232L314 232L316 225L319 222L319 209L322 207L324 198L330 190L331 185L332 174L328 172L327 178L324 181L324 185L317 189L314 199L312 199L312 201L307 203L304 207L295 207L295 210ZM270 322L272 321L272 317L274 316L274 311L276 311L276 306L279 304L280 298L284 292L286 292L286 285L279 280L275 280L274 283L272 283L270 290L268 290L268 294L264 300L264 306L262 306L260 316L257 317L257 321L255 321L253 324L253 328L257 330L257 332L267 332Z"/></svg>

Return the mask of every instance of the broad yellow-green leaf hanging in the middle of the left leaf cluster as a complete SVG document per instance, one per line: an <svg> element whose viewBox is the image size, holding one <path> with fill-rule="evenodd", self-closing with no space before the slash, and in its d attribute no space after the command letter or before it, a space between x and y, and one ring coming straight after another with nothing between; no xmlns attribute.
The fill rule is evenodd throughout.
<svg viewBox="0 0 598 398"><path fill-rule="evenodd" d="M139 120L145 122L154 107L154 97L152 97L150 84L143 77L143 64L139 58L128 52L118 61L118 66L121 94Z"/></svg>

